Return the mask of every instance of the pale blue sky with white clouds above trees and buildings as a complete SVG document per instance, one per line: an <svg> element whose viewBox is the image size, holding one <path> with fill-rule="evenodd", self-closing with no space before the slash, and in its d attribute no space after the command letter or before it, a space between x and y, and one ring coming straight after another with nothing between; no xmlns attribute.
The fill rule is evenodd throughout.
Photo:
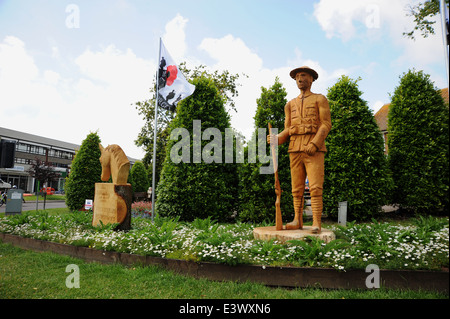
<svg viewBox="0 0 450 319"><path fill-rule="evenodd" d="M144 120L135 103L151 98L159 39L190 69L239 78L231 125L247 139L261 87L309 66L326 95L342 75L358 82L375 113L410 69L448 87L439 17L436 34L415 41L415 0L0 0L0 126L81 144L98 132L142 159ZM203 128L206 129L206 128Z"/></svg>

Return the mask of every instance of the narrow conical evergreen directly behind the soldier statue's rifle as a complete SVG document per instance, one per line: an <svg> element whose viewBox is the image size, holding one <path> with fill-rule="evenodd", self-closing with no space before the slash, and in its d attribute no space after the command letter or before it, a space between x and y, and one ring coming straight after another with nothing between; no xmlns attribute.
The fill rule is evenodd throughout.
<svg viewBox="0 0 450 319"><path fill-rule="evenodd" d="M263 222L264 220L275 220L275 187L273 174L261 174L260 168L267 166L262 164L258 154L258 128L267 129L270 122L273 129L278 132L284 130L284 107L287 103L286 90L280 83L278 77L269 89L261 87L261 96L257 99L257 109L254 116L255 132L253 141L245 149L245 163L240 165L240 193L239 193L239 219L251 222ZM264 139L266 135L264 135ZM256 144L254 144L256 143ZM294 211L291 194L291 173L288 143L278 146L278 178L281 189L281 213L283 219L291 218ZM256 163L248 163L249 148L256 151ZM271 156L270 145L266 145L265 154Z"/></svg>

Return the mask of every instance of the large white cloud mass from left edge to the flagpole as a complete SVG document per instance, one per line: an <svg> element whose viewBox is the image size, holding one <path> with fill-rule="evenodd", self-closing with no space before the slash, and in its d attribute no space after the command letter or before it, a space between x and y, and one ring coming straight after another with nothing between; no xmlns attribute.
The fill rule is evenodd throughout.
<svg viewBox="0 0 450 319"><path fill-rule="evenodd" d="M49 56L55 52L57 47ZM0 42L1 125L78 144L98 130L104 144L142 158L134 140L143 119L134 103L150 97L156 63L110 45L85 50L75 65L72 77L40 71L24 42L6 37Z"/></svg>

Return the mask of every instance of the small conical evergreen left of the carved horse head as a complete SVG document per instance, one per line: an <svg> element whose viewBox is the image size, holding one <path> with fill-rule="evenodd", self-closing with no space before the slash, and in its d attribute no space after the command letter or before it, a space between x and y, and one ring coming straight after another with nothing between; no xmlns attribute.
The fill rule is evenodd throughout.
<svg viewBox="0 0 450 319"><path fill-rule="evenodd" d="M86 199L94 199L95 183L101 182L102 173L99 143L98 134L89 133L75 154L65 185L66 204L70 210L78 210Z"/></svg>

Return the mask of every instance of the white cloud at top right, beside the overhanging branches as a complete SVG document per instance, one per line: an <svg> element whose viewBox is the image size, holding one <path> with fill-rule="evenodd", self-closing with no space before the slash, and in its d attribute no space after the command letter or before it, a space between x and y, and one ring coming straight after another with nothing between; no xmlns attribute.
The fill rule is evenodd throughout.
<svg viewBox="0 0 450 319"><path fill-rule="evenodd" d="M371 41L387 36L402 50L394 65L414 65L424 68L430 63L444 61L440 23L435 24L435 35L417 37L416 41L403 36L414 28L413 17L408 16L409 6L418 0L320 0L314 5L314 17L327 38Z"/></svg>

